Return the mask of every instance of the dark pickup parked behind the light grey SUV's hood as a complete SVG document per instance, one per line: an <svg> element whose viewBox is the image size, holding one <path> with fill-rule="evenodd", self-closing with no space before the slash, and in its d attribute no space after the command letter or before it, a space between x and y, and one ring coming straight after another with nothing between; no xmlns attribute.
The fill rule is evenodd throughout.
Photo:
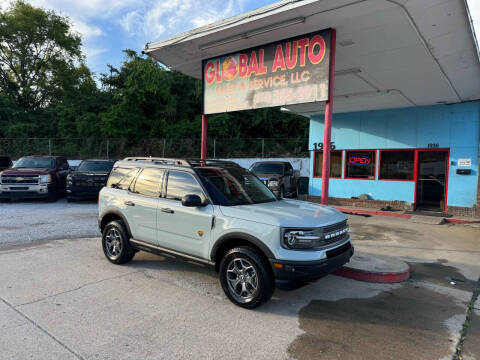
<svg viewBox="0 0 480 360"><path fill-rule="evenodd" d="M250 171L278 197L297 197L300 173L288 161L258 161L250 166Z"/></svg>

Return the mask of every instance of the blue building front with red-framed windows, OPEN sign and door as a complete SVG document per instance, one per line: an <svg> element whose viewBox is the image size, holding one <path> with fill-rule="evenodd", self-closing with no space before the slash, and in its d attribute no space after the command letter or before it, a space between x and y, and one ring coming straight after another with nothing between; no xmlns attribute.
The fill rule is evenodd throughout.
<svg viewBox="0 0 480 360"><path fill-rule="evenodd" d="M310 120L313 196L321 195L323 121ZM335 114L330 203L480 216L479 122L480 101Z"/></svg>

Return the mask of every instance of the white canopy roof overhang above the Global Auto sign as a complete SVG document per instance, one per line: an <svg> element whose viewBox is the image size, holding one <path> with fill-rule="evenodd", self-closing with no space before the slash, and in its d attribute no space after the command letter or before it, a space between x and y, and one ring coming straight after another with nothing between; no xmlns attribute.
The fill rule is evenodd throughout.
<svg viewBox="0 0 480 360"><path fill-rule="evenodd" d="M334 112L480 99L464 0L281 1L147 44L144 52L201 78L203 59L330 27L337 30ZM288 108L313 114L323 106Z"/></svg>

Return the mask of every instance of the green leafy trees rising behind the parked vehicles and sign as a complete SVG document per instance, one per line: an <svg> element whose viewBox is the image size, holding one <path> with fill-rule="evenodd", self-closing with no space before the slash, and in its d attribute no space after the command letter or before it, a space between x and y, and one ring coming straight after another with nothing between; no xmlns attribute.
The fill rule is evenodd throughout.
<svg viewBox="0 0 480 360"><path fill-rule="evenodd" d="M99 88L70 30L68 19L20 0L0 11L0 138L200 137L201 81L125 50L123 64L110 66ZM208 132L305 138L308 120L278 108L223 113L209 116Z"/></svg>

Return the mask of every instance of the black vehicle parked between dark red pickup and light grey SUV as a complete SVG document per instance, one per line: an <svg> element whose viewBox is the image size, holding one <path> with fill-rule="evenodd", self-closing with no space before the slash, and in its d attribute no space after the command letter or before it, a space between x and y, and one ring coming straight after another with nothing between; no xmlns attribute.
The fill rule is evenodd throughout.
<svg viewBox="0 0 480 360"><path fill-rule="evenodd" d="M107 183L113 160L84 160L67 176L67 200L96 198Z"/></svg>

